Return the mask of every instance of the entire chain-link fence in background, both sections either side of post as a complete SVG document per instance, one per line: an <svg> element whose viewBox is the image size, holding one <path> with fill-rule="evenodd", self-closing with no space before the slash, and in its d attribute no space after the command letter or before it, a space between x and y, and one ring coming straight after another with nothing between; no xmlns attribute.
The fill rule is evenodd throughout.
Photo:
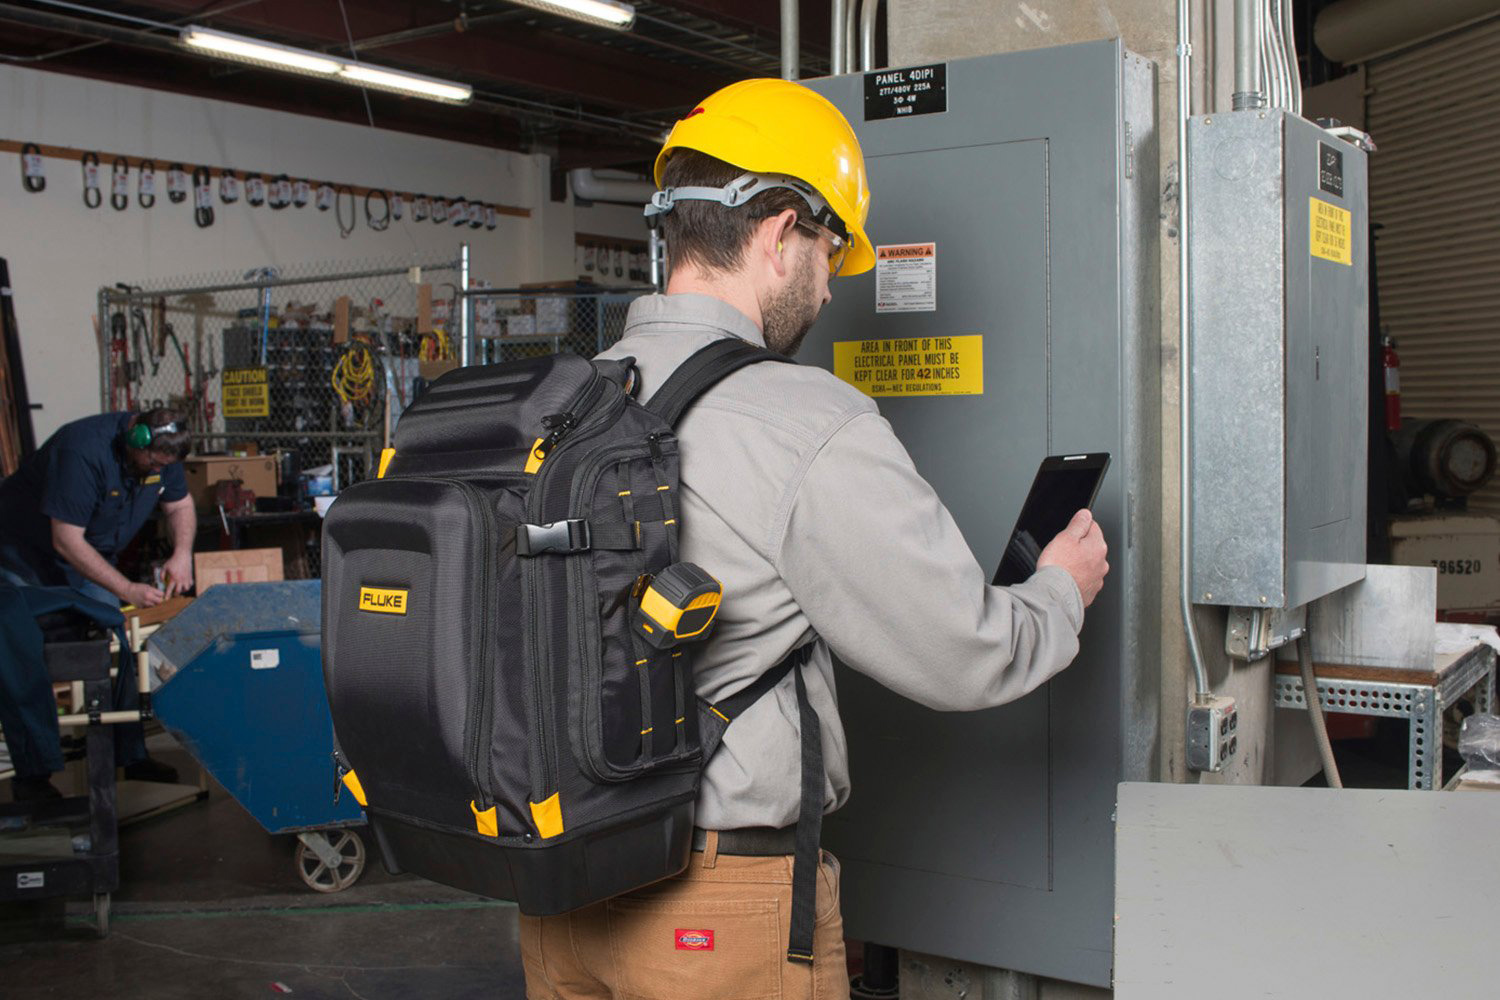
<svg viewBox="0 0 1500 1000"><path fill-rule="evenodd" d="M280 498L254 486L248 513L226 511L210 495L200 499L200 531L219 535L222 526L220 547L279 546L288 579L316 577L316 517L300 484L326 495L374 475L423 382L459 364L598 354L620 340L630 303L650 291L464 294L465 274L460 252L452 261L339 261L102 288L102 406L172 408L200 454L276 454Z"/></svg>

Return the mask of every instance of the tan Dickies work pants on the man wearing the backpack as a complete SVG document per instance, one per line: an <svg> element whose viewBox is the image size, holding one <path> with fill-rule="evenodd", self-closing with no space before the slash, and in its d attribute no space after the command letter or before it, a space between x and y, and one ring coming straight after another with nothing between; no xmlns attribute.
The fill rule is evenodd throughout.
<svg viewBox="0 0 1500 1000"><path fill-rule="evenodd" d="M838 862L818 867L812 966L786 961L792 859L718 853L564 913L520 918L526 1000L848 1000Z"/></svg>

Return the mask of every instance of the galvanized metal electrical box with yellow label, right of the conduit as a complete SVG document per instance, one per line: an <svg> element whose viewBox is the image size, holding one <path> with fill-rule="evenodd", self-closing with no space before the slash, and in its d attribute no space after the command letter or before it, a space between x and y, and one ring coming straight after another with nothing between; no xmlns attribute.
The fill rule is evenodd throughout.
<svg viewBox="0 0 1500 1000"><path fill-rule="evenodd" d="M1188 142L1192 598L1300 607L1365 573L1365 153L1281 111Z"/></svg>

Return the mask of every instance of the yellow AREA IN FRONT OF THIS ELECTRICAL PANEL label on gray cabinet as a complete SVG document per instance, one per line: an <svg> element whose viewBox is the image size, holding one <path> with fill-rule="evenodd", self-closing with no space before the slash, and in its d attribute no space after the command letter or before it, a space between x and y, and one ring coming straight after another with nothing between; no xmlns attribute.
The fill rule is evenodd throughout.
<svg viewBox="0 0 1500 1000"><path fill-rule="evenodd" d="M984 337L837 340L834 375L866 396L981 396Z"/></svg>

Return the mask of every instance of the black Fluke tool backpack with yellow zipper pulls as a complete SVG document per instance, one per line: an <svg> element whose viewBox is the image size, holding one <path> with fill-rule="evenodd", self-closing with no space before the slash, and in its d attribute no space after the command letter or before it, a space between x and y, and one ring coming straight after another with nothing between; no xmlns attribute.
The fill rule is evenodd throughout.
<svg viewBox="0 0 1500 1000"><path fill-rule="evenodd" d="M680 558L674 424L718 379L768 360L786 361L718 340L648 405L628 361L453 370L402 415L384 474L328 510L322 663L339 778L392 871L543 916L687 867L705 762L789 670L801 691L806 649L706 705L694 646L656 648L632 622ZM808 733L816 718L804 745ZM820 820L822 763L808 763ZM810 837L816 861L816 825Z"/></svg>

